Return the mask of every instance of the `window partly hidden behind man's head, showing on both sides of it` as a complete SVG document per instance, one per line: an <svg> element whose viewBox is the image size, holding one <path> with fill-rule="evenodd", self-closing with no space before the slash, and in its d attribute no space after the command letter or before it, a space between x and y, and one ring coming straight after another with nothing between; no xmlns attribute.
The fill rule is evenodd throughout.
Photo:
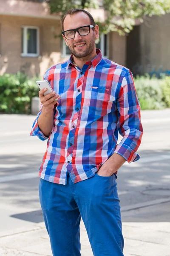
<svg viewBox="0 0 170 256"><path fill-rule="evenodd" d="M106 58L108 58L108 55L109 55L109 50L108 50L109 45L108 45L108 43L109 43L108 35L102 34L101 37L100 37L99 43L96 44L96 48L101 49L102 55ZM68 46L66 46L64 39L62 39L62 46L61 47L62 47L61 57L62 58L70 57L71 51L68 48Z"/></svg>

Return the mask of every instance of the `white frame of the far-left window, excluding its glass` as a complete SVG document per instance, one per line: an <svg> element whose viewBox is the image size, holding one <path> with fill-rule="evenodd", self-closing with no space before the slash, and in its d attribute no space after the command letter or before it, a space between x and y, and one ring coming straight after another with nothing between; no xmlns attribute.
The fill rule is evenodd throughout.
<svg viewBox="0 0 170 256"><path fill-rule="evenodd" d="M37 26L21 26L23 29L23 52L21 52L22 57L38 57L40 55L40 29ZM27 30L28 29L37 29L37 53L28 53L27 45ZM22 35L21 35L22 36ZM22 40L22 38L21 38Z"/></svg>

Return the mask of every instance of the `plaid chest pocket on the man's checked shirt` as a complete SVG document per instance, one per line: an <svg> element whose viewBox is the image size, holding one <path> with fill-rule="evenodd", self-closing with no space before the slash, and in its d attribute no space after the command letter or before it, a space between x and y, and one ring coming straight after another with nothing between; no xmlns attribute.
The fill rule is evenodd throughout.
<svg viewBox="0 0 170 256"><path fill-rule="evenodd" d="M90 99L88 106L90 111L101 112L103 108L108 108L108 102L111 96L111 87L91 86Z"/></svg>

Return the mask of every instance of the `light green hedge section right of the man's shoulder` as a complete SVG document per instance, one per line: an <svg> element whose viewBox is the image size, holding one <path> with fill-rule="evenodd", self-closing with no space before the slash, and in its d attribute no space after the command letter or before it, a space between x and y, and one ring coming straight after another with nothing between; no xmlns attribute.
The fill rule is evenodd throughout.
<svg viewBox="0 0 170 256"><path fill-rule="evenodd" d="M134 82L142 110L170 108L170 76L137 76Z"/></svg>

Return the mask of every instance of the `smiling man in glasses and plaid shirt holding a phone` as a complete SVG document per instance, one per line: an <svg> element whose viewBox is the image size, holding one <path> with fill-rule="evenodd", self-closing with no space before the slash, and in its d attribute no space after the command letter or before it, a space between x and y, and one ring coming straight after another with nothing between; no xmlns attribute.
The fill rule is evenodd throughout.
<svg viewBox="0 0 170 256"><path fill-rule="evenodd" d="M123 256L117 171L139 159L143 133L132 73L96 49L99 27L90 13L73 9L61 24L72 54L45 73L54 92L40 90L31 131L48 139L39 192L52 252L81 255L81 216L94 256Z"/></svg>

